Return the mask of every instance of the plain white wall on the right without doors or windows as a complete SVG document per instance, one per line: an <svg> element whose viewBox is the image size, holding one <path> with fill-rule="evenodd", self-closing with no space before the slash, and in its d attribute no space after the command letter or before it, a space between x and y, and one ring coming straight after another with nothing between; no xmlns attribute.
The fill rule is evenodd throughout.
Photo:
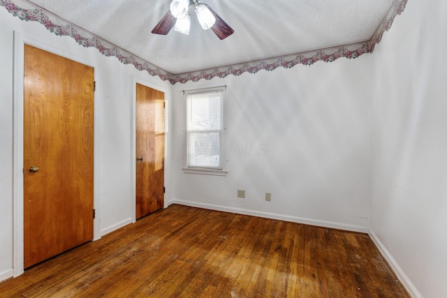
<svg viewBox="0 0 447 298"><path fill-rule="evenodd" d="M408 1L372 54L371 229L413 296L447 297L447 1Z"/></svg>

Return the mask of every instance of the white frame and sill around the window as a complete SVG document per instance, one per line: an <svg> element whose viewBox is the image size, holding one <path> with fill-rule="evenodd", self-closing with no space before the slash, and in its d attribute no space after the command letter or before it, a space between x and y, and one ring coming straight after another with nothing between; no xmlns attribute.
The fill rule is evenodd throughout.
<svg viewBox="0 0 447 298"><path fill-rule="evenodd" d="M188 174L210 174L218 176L226 176L226 86L209 87L203 89L182 90L184 94L184 167L183 172ZM222 111L221 111L221 167L205 167L189 165L189 131L188 131L188 114L191 106L188 105L188 98L194 94L221 92Z"/></svg>

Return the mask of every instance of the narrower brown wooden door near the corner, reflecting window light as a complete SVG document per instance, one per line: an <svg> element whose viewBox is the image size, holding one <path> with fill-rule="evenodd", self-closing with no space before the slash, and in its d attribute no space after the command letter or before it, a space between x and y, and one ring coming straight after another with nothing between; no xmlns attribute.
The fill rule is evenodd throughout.
<svg viewBox="0 0 447 298"><path fill-rule="evenodd" d="M164 94L136 85L136 218L163 208Z"/></svg>

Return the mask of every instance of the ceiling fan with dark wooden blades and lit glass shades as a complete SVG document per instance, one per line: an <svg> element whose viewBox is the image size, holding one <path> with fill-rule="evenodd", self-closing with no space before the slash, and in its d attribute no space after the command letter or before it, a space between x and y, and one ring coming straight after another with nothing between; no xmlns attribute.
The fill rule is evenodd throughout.
<svg viewBox="0 0 447 298"><path fill-rule="evenodd" d="M220 39L234 33L234 30L210 6L198 0L172 0L168 12L152 29L152 33L166 35L175 25L175 31L188 35L191 24L189 8L194 8L196 11L200 26L204 30L211 29Z"/></svg>

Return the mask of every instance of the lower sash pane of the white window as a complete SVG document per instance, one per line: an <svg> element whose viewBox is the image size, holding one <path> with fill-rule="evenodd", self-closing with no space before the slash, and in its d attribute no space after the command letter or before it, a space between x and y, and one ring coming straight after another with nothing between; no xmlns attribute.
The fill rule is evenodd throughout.
<svg viewBox="0 0 447 298"><path fill-rule="evenodd" d="M191 167L221 168L221 133L190 132L188 165Z"/></svg>

